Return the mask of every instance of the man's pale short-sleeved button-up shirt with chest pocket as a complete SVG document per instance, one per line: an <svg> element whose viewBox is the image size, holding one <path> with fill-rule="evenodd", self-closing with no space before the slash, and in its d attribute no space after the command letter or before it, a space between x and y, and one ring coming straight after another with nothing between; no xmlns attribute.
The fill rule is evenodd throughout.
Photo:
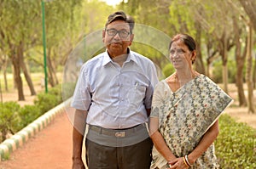
<svg viewBox="0 0 256 169"><path fill-rule="evenodd" d="M108 52L88 60L81 68L72 107L88 110L86 122L105 128L134 127L148 121L154 86L154 63L130 51L120 67Z"/></svg>

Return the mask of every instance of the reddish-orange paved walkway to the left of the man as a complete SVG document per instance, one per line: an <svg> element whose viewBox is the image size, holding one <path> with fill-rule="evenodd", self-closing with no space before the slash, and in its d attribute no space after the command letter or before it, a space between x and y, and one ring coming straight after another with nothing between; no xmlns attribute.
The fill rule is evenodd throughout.
<svg viewBox="0 0 256 169"><path fill-rule="evenodd" d="M72 166L72 124L67 113L57 115L49 126L16 149L0 169L62 169Z"/></svg>

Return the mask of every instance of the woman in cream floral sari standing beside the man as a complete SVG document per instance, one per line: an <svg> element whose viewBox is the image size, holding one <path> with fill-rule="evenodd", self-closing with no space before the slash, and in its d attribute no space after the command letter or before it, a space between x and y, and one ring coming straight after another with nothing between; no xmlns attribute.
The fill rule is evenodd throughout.
<svg viewBox="0 0 256 169"><path fill-rule="evenodd" d="M232 99L193 70L195 40L177 34L169 46L176 72L154 89L149 132L154 142L151 168L218 168L213 142L218 117Z"/></svg>

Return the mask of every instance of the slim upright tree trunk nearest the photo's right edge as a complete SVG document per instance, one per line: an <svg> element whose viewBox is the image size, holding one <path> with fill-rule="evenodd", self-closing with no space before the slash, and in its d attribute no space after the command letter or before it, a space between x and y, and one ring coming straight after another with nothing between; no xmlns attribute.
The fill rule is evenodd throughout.
<svg viewBox="0 0 256 169"><path fill-rule="evenodd" d="M253 67L253 25L252 23L248 24L248 44L247 44L247 88L248 88L248 113L254 113L254 105L253 105L253 75L252 75L252 67Z"/></svg>

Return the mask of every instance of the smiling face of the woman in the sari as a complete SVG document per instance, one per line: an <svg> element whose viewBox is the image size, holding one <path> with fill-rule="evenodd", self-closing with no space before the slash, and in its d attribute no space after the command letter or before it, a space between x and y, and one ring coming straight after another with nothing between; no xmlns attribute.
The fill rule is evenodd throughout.
<svg viewBox="0 0 256 169"><path fill-rule="evenodd" d="M189 51L189 48L183 43L182 40L172 42L170 48L170 59L173 67L178 69L191 68L192 60L195 59L195 51Z"/></svg>

